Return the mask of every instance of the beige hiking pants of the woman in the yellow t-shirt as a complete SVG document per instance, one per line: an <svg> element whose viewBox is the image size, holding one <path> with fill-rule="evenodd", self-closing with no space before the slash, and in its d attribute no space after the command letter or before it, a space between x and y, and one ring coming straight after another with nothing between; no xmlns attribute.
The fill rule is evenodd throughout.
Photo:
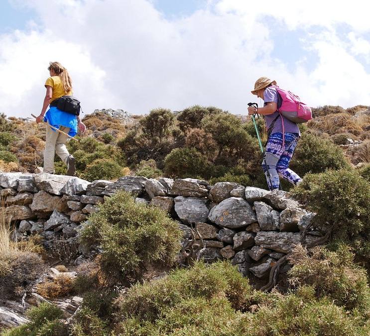
<svg viewBox="0 0 370 336"><path fill-rule="evenodd" d="M69 127L60 126L59 129L68 134ZM46 144L44 150L44 173L54 174L54 154L55 152L67 164L69 152L66 147L68 136L58 131L54 131L51 127L46 126Z"/></svg>

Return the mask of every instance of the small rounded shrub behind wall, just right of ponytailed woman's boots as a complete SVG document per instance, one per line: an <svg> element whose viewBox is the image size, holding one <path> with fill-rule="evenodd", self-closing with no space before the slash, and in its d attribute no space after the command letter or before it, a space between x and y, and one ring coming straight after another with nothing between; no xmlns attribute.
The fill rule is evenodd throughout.
<svg viewBox="0 0 370 336"><path fill-rule="evenodd" d="M123 175L122 168L112 159L98 159L88 164L80 177L87 181L113 180Z"/></svg>

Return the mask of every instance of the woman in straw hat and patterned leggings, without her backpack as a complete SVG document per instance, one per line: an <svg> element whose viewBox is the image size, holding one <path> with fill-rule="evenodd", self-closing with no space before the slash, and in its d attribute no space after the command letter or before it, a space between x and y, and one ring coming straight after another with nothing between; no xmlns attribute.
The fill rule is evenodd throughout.
<svg viewBox="0 0 370 336"><path fill-rule="evenodd" d="M279 188L279 176L294 185L301 181L301 178L289 169L290 159L301 134L295 122L277 111L278 94L275 86L276 81L267 77L258 78L251 93L263 100L263 108L248 108L248 114L258 112L264 116L266 122L268 140L262 168L270 190Z"/></svg>

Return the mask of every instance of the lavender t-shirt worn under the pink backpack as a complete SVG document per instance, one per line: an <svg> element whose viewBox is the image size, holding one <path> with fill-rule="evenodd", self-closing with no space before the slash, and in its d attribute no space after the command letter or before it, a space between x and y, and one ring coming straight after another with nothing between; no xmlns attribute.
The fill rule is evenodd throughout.
<svg viewBox="0 0 370 336"><path fill-rule="evenodd" d="M264 101L263 106L265 106L267 103L271 103L271 102L275 102L277 104L278 99L277 99L276 90L274 88L271 88L271 87L266 88L265 91L263 92L263 101ZM264 119L266 121L267 129L270 128L272 121L275 120L275 118L278 115L279 115L279 112L277 112L277 111L273 112L272 114L265 114L264 115ZM285 131L285 133L298 133L299 135L301 135L301 132L299 131L299 127L295 122L290 121L285 116L282 116L282 119L283 119L283 122L284 122L284 131ZM275 124L274 124L274 126L271 130L271 134L272 133L277 133L277 132L281 132L281 133L283 132L280 116L276 119Z"/></svg>

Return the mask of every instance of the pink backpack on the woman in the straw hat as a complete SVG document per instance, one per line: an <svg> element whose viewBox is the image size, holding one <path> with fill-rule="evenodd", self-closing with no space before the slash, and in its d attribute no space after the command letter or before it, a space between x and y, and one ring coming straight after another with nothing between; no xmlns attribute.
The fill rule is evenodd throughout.
<svg viewBox="0 0 370 336"><path fill-rule="evenodd" d="M300 98L290 91L282 90L272 85L278 95L277 111L287 119L302 123L312 119L312 111L309 106L302 103Z"/></svg>

